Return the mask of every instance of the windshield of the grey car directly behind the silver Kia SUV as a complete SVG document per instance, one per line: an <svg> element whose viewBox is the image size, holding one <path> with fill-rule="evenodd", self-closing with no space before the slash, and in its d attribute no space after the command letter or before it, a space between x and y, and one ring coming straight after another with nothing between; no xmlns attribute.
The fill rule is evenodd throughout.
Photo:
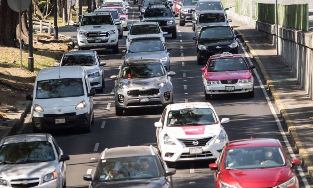
<svg viewBox="0 0 313 188"><path fill-rule="evenodd" d="M128 53L164 51L161 40L132 40Z"/></svg>

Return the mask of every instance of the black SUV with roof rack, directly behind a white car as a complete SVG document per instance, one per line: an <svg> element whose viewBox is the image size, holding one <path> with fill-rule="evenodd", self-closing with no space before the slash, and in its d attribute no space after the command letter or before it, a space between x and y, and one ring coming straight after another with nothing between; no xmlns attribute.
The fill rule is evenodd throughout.
<svg viewBox="0 0 313 188"><path fill-rule="evenodd" d="M172 34L172 39L176 39L176 17L177 14L173 14L171 3L167 1L151 1L147 7L145 13L138 18L141 22L159 22L162 31L166 31L168 34Z"/></svg>

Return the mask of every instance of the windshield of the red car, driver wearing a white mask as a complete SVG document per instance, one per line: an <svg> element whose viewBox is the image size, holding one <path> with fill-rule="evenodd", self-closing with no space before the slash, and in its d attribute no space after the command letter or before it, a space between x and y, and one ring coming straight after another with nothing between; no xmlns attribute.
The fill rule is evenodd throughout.
<svg viewBox="0 0 313 188"><path fill-rule="evenodd" d="M225 156L225 169L261 169L286 165L280 147L249 147L228 149Z"/></svg>

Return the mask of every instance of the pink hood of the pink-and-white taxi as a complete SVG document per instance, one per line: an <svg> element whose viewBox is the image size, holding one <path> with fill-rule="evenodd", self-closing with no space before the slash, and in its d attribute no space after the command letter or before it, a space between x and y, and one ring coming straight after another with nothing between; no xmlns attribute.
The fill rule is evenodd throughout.
<svg viewBox="0 0 313 188"><path fill-rule="evenodd" d="M233 70L221 72L207 72L205 75L207 80L238 80L251 78L250 70Z"/></svg>

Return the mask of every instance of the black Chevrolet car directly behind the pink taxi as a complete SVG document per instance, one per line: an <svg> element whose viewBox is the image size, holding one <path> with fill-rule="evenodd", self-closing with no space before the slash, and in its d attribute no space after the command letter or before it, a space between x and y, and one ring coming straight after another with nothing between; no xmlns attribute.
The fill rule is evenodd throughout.
<svg viewBox="0 0 313 188"><path fill-rule="evenodd" d="M199 37L193 37L197 44L198 64L208 60L211 55L230 52L239 53L239 44L237 38L241 35L235 35L229 25L205 26L201 29Z"/></svg>

